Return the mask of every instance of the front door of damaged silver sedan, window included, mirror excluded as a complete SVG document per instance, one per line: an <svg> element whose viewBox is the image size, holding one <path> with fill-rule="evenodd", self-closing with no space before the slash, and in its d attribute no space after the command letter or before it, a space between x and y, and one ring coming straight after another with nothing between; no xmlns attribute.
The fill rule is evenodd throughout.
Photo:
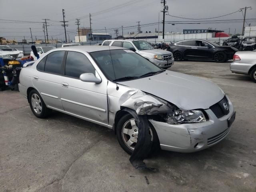
<svg viewBox="0 0 256 192"><path fill-rule="evenodd" d="M89 54L68 51L65 76L61 87L64 110L104 124L108 123L107 80L101 83L82 82L79 76L93 73L98 76Z"/></svg>

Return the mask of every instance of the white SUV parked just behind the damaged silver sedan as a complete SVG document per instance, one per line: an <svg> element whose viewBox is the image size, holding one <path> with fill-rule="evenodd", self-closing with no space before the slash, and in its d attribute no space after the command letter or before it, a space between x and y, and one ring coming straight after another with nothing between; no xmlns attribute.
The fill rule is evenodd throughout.
<svg viewBox="0 0 256 192"><path fill-rule="evenodd" d="M102 46L116 46L130 49L163 69L167 69L174 64L174 58L171 52L154 49L148 42L143 40L104 40Z"/></svg>

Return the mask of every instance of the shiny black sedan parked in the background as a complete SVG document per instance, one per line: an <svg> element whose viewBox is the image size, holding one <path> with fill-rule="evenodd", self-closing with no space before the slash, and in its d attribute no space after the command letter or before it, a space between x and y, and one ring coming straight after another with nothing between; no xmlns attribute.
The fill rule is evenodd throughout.
<svg viewBox="0 0 256 192"><path fill-rule="evenodd" d="M168 51L172 52L175 61L214 60L221 63L233 59L238 49L231 46L220 46L205 40L190 39L170 45Z"/></svg>

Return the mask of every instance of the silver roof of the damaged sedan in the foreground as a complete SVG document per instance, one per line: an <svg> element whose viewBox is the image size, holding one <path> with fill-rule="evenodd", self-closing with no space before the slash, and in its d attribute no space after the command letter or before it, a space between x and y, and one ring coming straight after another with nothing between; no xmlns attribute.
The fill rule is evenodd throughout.
<svg viewBox="0 0 256 192"><path fill-rule="evenodd" d="M86 52L96 52L96 51L106 51L106 50L115 50L115 49L125 49L122 47L115 46L98 46L98 45L82 45L82 46L74 46L74 47L62 47L54 49L56 50L71 50L71 51L86 51Z"/></svg>

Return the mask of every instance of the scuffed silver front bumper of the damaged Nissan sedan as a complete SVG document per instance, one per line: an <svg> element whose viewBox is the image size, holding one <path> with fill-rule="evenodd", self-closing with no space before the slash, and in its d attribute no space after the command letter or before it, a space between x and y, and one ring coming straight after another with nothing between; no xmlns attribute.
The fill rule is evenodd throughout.
<svg viewBox="0 0 256 192"><path fill-rule="evenodd" d="M161 149L188 153L220 142L230 132L228 118L232 116L234 108L229 99L228 102L230 111L221 118L217 118L212 110L205 110L209 118L206 122L171 125L149 120L158 134Z"/></svg>

